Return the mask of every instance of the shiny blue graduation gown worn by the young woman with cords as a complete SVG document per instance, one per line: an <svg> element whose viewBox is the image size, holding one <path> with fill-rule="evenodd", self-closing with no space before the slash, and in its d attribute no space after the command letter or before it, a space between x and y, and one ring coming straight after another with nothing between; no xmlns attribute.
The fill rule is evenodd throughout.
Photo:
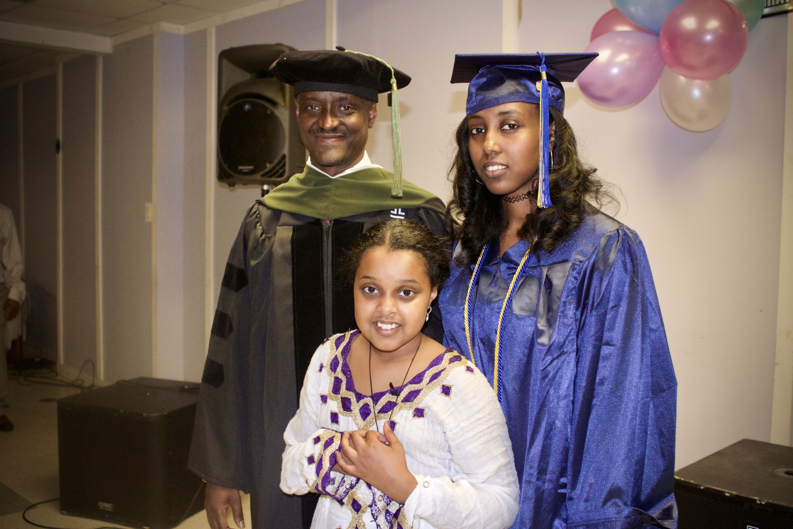
<svg viewBox="0 0 793 529"><path fill-rule="evenodd" d="M471 344L492 381L496 327L523 240L490 245ZM463 307L473 266L440 293L445 343L469 356ZM677 382L638 235L590 209L550 254L531 255L504 314L502 408L520 483L513 527L676 527Z"/></svg>

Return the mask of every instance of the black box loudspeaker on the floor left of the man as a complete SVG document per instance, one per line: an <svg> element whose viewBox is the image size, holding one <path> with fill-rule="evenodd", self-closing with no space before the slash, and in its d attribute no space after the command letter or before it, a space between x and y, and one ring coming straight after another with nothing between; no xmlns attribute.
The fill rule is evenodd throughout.
<svg viewBox="0 0 793 529"><path fill-rule="evenodd" d="M167 529L204 508L187 470L198 387L135 378L60 399L61 512Z"/></svg>

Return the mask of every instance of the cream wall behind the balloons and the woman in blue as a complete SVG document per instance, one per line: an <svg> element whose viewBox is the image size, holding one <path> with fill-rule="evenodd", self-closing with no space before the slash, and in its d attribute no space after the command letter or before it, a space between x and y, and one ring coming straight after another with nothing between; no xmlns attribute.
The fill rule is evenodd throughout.
<svg viewBox="0 0 793 529"><path fill-rule="evenodd" d="M610 9L524 2L520 50L583 50ZM588 161L622 190L617 218L642 236L653 267L679 382L677 468L739 439L769 440L786 40L786 16L749 33L730 74L732 109L710 132L672 124L657 86L619 112L565 87L565 117Z"/></svg>

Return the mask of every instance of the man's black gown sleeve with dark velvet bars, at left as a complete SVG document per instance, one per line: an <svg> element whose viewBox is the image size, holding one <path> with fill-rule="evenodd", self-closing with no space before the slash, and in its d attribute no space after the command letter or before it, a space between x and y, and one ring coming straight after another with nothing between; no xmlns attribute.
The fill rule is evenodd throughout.
<svg viewBox="0 0 793 529"><path fill-rule="evenodd" d="M251 307L248 289L248 245L261 236L256 205L239 228L220 286L201 375L188 468L209 483L251 490L248 454L248 362Z"/></svg>

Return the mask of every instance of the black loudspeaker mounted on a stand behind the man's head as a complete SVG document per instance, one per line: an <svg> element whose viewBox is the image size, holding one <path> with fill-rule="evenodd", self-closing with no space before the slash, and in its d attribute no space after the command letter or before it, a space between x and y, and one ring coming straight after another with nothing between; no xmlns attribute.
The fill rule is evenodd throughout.
<svg viewBox="0 0 793 529"><path fill-rule="evenodd" d="M270 75L270 64L294 48L254 44L228 48L217 60L217 179L258 184L262 194L305 167L294 91Z"/></svg>

